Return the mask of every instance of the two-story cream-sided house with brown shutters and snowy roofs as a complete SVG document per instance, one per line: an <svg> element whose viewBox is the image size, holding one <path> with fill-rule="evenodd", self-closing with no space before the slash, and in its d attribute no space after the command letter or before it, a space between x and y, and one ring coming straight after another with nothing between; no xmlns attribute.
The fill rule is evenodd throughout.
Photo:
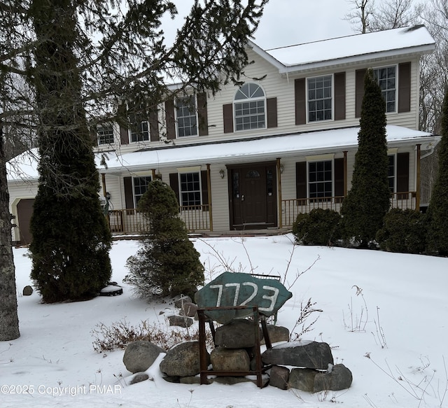
<svg viewBox="0 0 448 408"><path fill-rule="evenodd" d="M298 213L339 210L351 185L368 68L386 99L391 204L418 209L420 160L439 140L418 130L419 62L434 48L423 26L273 50L249 41L253 63L241 87L176 97L132 129L97 129L111 230L144 228L135 209L156 177L176 192L191 232L283 230ZM10 180L16 241L29 222L20 203L31 204L34 189L25 193L21 183Z"/></svg>

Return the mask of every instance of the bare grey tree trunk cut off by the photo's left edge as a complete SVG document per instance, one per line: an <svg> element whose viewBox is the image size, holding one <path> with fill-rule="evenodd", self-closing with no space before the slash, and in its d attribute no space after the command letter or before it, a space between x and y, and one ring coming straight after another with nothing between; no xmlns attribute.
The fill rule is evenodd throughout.
<svg viewBox="0 0 448 408"><path fill-rule="evenodd" d="M9 193L6 181L3 132L0 125L0 342L17 339L19 336Z"/></svg>

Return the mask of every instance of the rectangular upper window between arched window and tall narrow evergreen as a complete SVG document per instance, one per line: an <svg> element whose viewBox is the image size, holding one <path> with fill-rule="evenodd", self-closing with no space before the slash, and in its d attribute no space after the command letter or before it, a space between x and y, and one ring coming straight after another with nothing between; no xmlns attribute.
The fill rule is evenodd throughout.
<svg viewBox="0 0 448 408"><path fill-rule="evenodd" d="M332 119L332 76L307 79L308 122Z"/></svg>

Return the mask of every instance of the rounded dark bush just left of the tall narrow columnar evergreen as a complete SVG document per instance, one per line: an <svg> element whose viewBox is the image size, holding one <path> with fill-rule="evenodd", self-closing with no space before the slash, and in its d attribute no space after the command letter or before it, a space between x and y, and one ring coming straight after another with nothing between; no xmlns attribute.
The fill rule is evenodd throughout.
<svg viewBox="0 0 448 408"><path fill-rule="evenodd" d="M341 216L330 209L300 213L293 223L295 241L303 245L333 245L341 238Z"/></svg>

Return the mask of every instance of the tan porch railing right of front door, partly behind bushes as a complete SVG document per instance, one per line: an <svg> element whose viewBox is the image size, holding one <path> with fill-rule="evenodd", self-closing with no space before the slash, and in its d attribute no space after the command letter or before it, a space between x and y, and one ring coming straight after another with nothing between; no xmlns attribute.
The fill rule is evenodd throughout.
<svg viewBox="0 0 448 408"><path fill-rule="evenodd" d="M281 221L283 227L291 227L300 213L309 213L312 209L331 209L341 211L344 197L300 198L281 200ZM415 209L416 193L394 192L391 195L391 208Z"/></svg>

